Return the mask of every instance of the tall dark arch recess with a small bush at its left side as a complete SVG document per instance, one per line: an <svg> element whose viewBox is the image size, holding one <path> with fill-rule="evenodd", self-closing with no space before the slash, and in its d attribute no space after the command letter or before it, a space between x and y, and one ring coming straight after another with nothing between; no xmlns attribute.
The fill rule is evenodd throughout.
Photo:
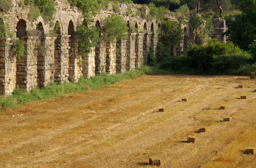
<svg viewBox="0 0 256 168"><path fill-rule="evenodd" d="M16 87L26 90L26 64L27 64L27 31L26 31L26 21L20 19L16 25L16 37L25 42L25 55L24 58L16 61Z"/></svg>

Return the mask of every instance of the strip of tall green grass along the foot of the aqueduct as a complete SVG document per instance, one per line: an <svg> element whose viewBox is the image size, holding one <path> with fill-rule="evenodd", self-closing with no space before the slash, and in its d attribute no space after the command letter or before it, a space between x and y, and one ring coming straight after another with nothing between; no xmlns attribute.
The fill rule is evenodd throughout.
<svg viewBox="0 0 256 168"><path fill-rule="evenodd" d="M0 106L2 108L14 108L23 103L31 102L34 100L42 100L51 97L59 97L65 94L74 92L86 92L88 89L99 88L106 84L115 84L121 82L123 79L137 78L145 73L152 73L148 67L142 67L139 70L117 73L117 74L107 74L102 73L98 76L94 76L90 79L81 77L77 83L51 83L43 89L32 89L30 92L25 92L20 89L14 90L11 96L1 96Z"/></svg>

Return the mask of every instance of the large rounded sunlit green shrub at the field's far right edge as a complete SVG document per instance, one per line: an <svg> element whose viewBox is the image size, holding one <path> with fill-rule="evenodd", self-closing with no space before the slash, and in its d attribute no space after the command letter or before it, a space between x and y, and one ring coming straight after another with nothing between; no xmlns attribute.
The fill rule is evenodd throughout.
<svg viewBox="0 0 256 168"><path fill-rule="evenodd" d="M232 59L240 60L238 66L249 63L248 61L252 59L251 55L231 42L221 43L217 40L209 41L207 46L193 45L187 49L186 54L190 57L190 66L202 72L216 70L218 66L220 66L218 67L219 72L225 72L225 66L232 67L234 65L234 63L229 64Z"/></svg>

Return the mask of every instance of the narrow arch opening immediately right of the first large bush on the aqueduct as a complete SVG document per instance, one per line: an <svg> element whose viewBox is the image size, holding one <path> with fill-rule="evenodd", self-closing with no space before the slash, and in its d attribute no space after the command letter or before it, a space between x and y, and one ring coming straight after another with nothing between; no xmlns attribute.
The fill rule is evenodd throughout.
<svg viewBox="0 0 256 168"><path fill-rule="evenodd" d="M101 25L97 20L95 26L99 29L99 37L101 37ZM100 74L100 40L95 48L95 74Z"/></svg>

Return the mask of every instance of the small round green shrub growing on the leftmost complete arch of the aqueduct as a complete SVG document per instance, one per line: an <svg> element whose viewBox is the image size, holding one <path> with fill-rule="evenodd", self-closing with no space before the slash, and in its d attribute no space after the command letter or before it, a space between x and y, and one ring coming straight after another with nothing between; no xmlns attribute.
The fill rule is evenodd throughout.
<svg viewBox="0 0 256 168"><path fill-rule="evenodd" d="M18 61L22 60L25 56L25 42L21 39L12 40L11 51Z"/></svg>

